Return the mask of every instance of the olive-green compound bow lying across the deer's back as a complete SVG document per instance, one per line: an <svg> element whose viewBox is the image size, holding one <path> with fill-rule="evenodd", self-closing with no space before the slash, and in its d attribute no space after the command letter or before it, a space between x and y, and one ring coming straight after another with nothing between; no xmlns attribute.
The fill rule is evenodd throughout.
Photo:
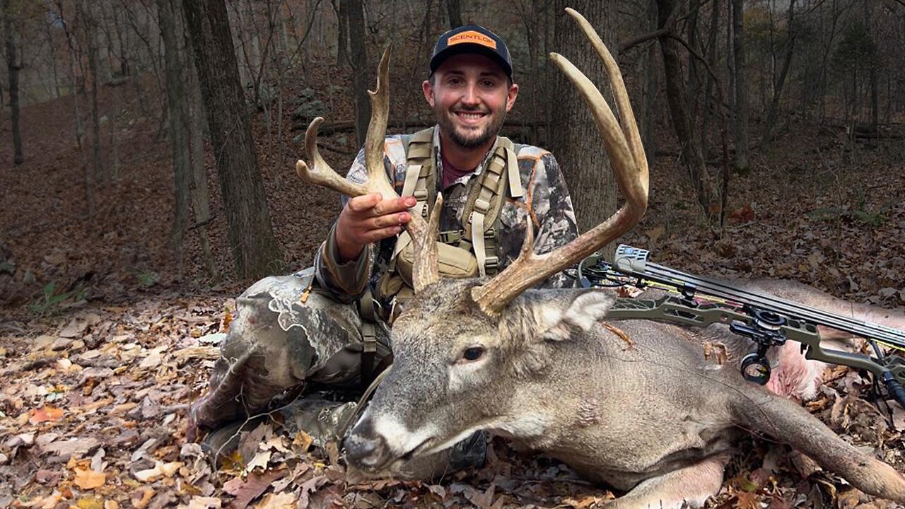
<svg viewBox="0 0 905 509"><path fill-rule="evenodd" d="M759 384L770 378L767 351L788 340L801 343L805 359L823 360L867 370L881 379L891 396L905 408L905 360L886 355L877 346L905 350L905 331L862 322L832 312L824 312L765 293L739 290L726 283L686 274L648 262L647 250L619 245L613 263L592 255L578 264L577 276L585 287L651 284L665 286L672 294L656 300L619 298L607 316L614 319L645 319L706 327L724 323L729 330L746 336L757 351L741 360L742 375ZM679 293L678 295L675 293ZM704 296L704 299L700 297ZM849 332L869 341L874 356L824 349L817 326Z"/></svg>

